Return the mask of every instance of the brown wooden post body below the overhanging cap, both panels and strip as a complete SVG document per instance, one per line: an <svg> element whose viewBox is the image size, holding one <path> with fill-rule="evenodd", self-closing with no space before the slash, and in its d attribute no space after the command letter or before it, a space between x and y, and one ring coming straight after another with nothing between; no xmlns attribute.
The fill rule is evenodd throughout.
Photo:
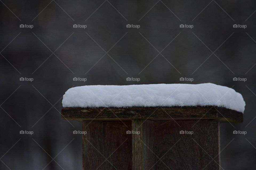
<svg viewBox="0 0 256 170"><path fill-rule="evenodd" d="M84 170L220 169L219 121L133 119L124 123L128 127L121 121L82 123L87 132L82 135ZM127 130L140 134L127 134ZM193 134L181 134L181 130Z"/></svg>

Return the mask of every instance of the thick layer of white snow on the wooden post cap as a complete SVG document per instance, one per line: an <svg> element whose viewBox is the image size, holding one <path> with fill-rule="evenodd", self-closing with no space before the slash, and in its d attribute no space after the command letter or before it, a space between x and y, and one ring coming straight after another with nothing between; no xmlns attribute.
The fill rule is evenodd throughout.
<svg viewBox="0 0 256 170"><path fill-rule="evenodd" d="M73 87L63 107L218 106L244 112L245 101L234 89L212 83L93 85Z"/></svg>

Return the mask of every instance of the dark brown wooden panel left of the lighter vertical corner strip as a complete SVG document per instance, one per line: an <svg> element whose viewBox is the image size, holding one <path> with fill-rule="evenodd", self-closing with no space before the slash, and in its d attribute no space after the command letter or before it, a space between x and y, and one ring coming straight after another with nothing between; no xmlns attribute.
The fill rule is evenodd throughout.
<svg viewBox="0 0 256 170"><path fill-rule="evenodd" d="M84 170L132 169L131 121L83 122L82 129Z"/></svg>

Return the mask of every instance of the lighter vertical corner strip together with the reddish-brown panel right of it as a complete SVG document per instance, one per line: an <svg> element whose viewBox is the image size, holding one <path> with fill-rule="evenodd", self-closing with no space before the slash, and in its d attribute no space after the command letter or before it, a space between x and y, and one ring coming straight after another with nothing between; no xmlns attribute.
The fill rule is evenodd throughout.
<svg viewBox="0 0 256 170"><path fill-rule="evenodd" d="M133 170L220 169L218 121L133 119L132 129Z"/></svg>

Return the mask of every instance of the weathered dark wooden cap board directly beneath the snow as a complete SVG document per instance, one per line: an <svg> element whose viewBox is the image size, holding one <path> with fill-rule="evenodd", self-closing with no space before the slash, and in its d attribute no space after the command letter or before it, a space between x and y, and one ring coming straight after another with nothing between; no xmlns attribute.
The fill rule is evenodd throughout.
<svg viewBox="0 0 256 170"><path fill-rule="evenodd" d="M63 119L78 121L120 119L148 120L219 120L243 122L243 113L223 107L130 107L130 108L62 108Z"/></svg>

